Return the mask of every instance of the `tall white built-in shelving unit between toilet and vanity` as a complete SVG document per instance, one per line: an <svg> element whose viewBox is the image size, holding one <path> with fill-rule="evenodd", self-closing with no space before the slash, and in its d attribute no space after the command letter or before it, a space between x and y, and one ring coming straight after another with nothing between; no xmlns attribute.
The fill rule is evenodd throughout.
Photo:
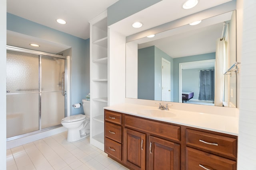
<svg viewBox="0 0 256 170"><path fill-rule="evenodd" d="M90 94L90 143L104 150L103 107L108 105L107 11L90 21Z"/></svg>

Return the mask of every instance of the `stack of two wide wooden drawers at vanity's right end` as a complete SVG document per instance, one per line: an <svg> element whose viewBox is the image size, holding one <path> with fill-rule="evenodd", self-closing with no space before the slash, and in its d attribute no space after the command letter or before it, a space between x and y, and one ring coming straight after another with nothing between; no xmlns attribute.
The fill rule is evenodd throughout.
<svg viewBox="0 0 256 170"><path fill-rule="evenodd" d="M236 170L237 138L186 128L186 170Z"/></svg>

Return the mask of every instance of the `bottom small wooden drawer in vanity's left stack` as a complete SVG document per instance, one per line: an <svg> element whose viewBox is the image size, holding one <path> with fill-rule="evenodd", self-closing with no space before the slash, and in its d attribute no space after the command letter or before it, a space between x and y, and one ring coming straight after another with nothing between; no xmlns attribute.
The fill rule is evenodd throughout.
<svg viewBox="0 0 256 170"><path fill-rule="evenodd" d="M122 160L122 145L105 137L105 152L111 156Z"/></svg>

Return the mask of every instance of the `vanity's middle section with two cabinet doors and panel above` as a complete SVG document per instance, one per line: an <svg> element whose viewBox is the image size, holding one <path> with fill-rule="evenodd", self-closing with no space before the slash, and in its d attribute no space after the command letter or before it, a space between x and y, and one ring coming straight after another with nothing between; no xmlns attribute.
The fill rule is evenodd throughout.
<svg viewBox="0 0 256 170"><path fill-rule="evenodd" d="M180 169L180 126L124 115L124 127L125 164L135 170Z"/></svg>

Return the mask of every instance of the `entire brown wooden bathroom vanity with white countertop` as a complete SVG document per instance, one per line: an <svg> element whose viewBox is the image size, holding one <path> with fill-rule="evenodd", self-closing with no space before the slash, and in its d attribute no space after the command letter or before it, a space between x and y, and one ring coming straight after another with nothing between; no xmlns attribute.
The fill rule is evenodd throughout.
<svg viewBox="0 0 256 170"><path fill-rule="evenodd" d="M134 170L236 170L236 119L137 104L106 107L105 152Z"/></svg>

